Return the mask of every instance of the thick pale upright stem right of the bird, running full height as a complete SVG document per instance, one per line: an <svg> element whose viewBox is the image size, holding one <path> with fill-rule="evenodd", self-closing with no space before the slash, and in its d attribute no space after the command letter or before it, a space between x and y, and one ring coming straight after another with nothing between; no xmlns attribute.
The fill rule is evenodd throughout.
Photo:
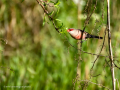
<svg viewBox="0 0 120 90"><path fill-rule="evenodd" d="M114 73L114 62L113 62L113 53L112 53L112 45L111 45L111 33L110 33L110 0L107 0L107 27L108 27L108 45L109 45L109 59L111 62L111 74L112 74L112 85L113 90L115 90L115 73Z"/></svg>

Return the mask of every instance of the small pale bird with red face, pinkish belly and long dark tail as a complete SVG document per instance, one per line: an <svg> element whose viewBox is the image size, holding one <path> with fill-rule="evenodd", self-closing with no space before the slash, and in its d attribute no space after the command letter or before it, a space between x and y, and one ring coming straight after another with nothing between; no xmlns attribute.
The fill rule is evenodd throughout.
<svg viewBox="0 0 120 90"><path fill-rule="evenodd" d="M77 40L87 40L87 38L103 39L103 37L91 35L88 32L83 32L83 30L80 29L70 28L67 30L67 32L71 35L71 37Z"/></svg>

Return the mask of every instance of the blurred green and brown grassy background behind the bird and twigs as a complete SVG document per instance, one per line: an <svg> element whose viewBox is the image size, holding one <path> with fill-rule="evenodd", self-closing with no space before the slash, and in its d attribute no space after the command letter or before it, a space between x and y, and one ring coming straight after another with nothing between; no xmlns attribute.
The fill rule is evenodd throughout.
<svg viewBox="0 0 120 90"><path fill-rule="evenodd" d="M80 2L60 0L59 12L55 19L61 20L64 28L83 29L86 15L92 12L95 2L93 0L91 7L87 8L87 0ZM116 57L114 60L117 60L115 63L118 66L119 3L119 0L111 0L112 46ZM50 8L46 7L46 9ZM55 9L50 9L52 10ZM85 31L104 36L106 10L106 1L98 0L96 10ZM96 56L86 53L79 55L76 49L77 40L72 39L66 30L61 34L55 31L47 16L43 26L44 15L36 0L0 0L0 90L107 90L96 84L112 89L110 68L105 62L109 59L99 57L92 71L95 77L90 77L90 69ZM88 39L83 42L82 50L99 53L102 42L102 40ZM101 54L108 55L107 36ZM96 84L76 81L77 73L80 75L79 80L90 80ZM115 68L115 76L120 82L118 68ZM118 82L116 82L117 90Z"/></svg>

